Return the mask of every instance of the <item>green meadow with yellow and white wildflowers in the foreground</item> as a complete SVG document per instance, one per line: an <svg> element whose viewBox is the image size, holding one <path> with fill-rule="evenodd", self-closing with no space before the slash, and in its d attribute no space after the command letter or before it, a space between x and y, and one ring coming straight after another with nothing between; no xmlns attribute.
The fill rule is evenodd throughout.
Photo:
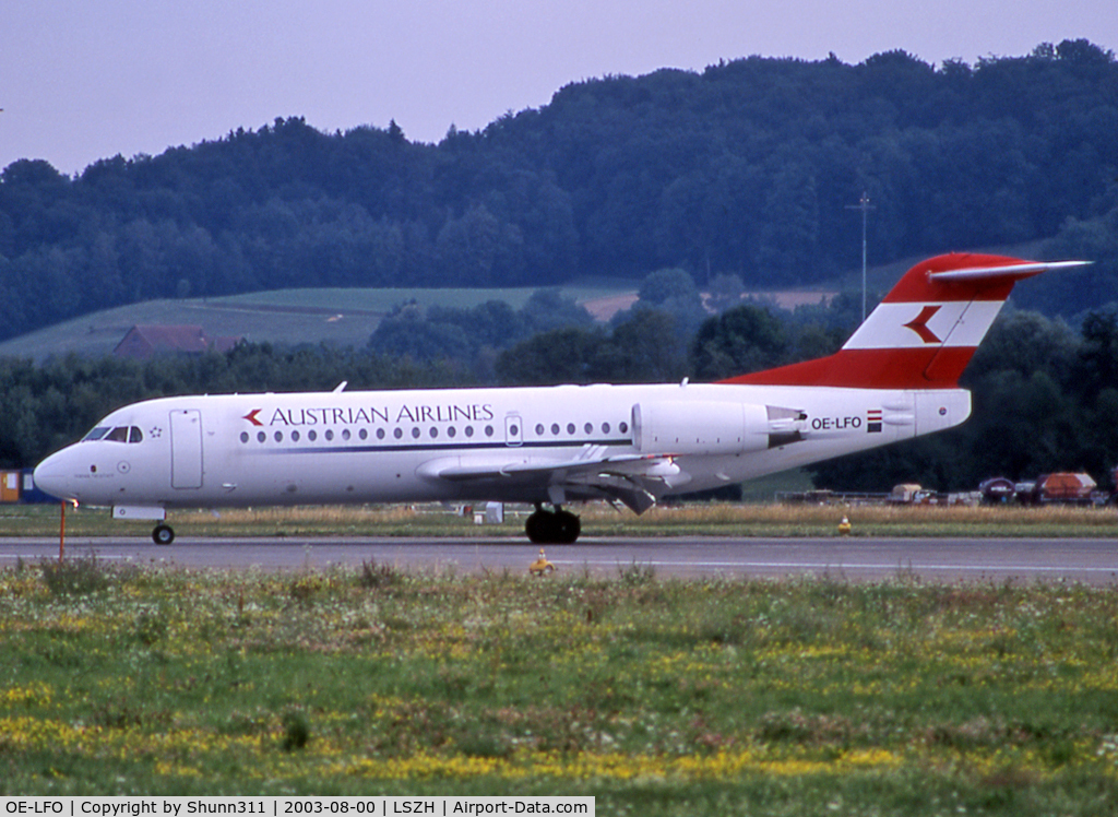
<svg viewBox="0 0 1118 817"><path fill-rule="evenodd" d="M0 572L0 795L1118 811L1118 590Z"/></svg>

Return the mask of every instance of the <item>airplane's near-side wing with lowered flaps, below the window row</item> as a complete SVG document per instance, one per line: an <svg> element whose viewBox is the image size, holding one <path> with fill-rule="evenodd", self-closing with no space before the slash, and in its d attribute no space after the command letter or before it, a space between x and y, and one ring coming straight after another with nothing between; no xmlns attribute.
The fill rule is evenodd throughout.
<svg viewBox="0 0 1118 817"><path fill-rule="evenodd" d="M425 462L419 476L453 482L499 482L500 492L538 488L548 500L561 505L568 497L618 500L643 514L667 488L690 481L690 477L667 454L613 454L605 445L585 445L577 457L566 460L530 456L492 454L448 457Z"/></svg>

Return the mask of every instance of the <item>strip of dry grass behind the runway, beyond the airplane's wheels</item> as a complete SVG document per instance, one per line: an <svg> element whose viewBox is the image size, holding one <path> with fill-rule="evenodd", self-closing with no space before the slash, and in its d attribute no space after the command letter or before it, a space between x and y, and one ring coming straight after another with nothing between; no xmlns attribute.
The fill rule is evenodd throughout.
<svg viewBox="0 0 1118 817"><path fill-rule="evenodd" d="M523 536L530 510L511 508L503 525L473 524L473 517L442 506L299 507L171 511L168 522L183 536ZM710 504L655 507L643 516L591 504L578 509L585 536L837 536L847 516L854 536L1048 536L1115 537L1118 509L1063 506L789 506ZM0 506L0 535L58 534L58 506ZM146 536L149 523L121 523L104 508L68 511L73 536Z"/></svg>

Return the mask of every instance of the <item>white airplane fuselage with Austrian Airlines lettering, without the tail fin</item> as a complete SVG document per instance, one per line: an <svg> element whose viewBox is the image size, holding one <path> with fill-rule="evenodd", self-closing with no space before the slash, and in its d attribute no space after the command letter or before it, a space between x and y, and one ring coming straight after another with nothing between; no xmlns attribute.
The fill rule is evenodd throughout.
<svg viewBox="0 0 1118 817"><path fill-rule="evenodd" d="M98 423L101 439L48 457L35 479L119 516L558 504L608 498L600 487L609 480L659 499L939 431L969 412L970 395L958 388L686 383L165 397L113 412Z"/></svg>

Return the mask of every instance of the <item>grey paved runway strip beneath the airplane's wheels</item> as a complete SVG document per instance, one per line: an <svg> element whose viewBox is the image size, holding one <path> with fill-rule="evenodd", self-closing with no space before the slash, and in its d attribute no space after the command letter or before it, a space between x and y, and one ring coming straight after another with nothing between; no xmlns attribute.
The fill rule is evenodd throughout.
<svg viewBox="0 0 1118 817"><path fill-rule="evenodd" d="M186 569L322 570L376 561L411 572L527 573L539 547L522 538L192 538L162 547L146 537L75 537L66 554ZM831 577L851 582L1077 582L1118 584L1109 538L596 538L552 545L558 576ZM0 538L0 567L58 557L57 538Z"/></svg>

